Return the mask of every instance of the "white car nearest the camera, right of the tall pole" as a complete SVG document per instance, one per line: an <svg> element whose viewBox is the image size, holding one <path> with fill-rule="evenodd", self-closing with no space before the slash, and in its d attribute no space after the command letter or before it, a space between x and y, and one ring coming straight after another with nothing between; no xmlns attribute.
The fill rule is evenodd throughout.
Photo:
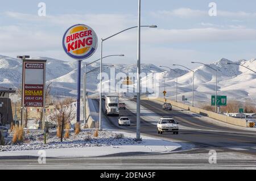
<svg viewBox="0 0 256 181"><path fill-rule="evenodd" d="M172 132L174 134L179 134L179 127L172 117L161 117L158 121L158 134L163 134L163 132Z"/></svg>

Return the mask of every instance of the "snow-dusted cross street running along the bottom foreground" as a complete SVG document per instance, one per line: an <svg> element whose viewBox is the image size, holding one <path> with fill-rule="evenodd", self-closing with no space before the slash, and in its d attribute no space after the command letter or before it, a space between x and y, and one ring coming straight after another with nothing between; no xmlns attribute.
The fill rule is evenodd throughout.
<svg viewBox="0 0 256 181"><path fill-rule="evenodd" d="M238 151L217 151L216 163L209 163L205 150L184 151L180 153L134 155L124 157L94 158L47 158L46 164L34 159L0 160L0 169L255 169L254 155ZM114 172L114 171L112 171ZM96 176L96 175L94 175Z"/></svg>

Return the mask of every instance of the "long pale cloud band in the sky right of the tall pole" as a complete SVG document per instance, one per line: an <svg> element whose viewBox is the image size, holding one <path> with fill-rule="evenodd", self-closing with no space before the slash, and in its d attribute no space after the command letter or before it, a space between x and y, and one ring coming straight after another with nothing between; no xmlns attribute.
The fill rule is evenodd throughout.
<svg viewBox="0 0 256 181"><path fill-rule="evenodd" d="M152 32L153 31L153 32ZM154 33L155 32L155 33ZM152 36L152 34L156 36ZM147 30L142 34L148 43L190 43L256 40L256 30L249 28L192 28L183 30ZM150 39L146 39L150 37Z"/></svg>

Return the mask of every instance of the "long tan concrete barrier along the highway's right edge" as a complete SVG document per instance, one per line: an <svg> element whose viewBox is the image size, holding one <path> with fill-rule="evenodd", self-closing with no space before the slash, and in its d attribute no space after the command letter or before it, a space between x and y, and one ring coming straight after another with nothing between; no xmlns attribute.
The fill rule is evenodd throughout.
<svg viewBox="0 0 256 181"><path fill-rule="evenodd" d="M154 100L158 100L160 102L164 102L163 98L156 98ZM167 100L167 102L171 103L173 106L182 108L184 110L188 110L188 111L191 111L191 112L199 113L199 114L201 114L203 116L208 116L208 117L211 117L213 119L216 119L216 120L219 120L219 121L223 121L225 123L229 123L229 124L233 124L233 125L238 125L240 127L247 127L245 119L237 119L237 118L234 118L234 117L229 117L229 116L221 115L219 113L203 110L201 108L189 106L187 104L183 104L183 103L179 103L179 102L174 102L172 100Z"/></svg>

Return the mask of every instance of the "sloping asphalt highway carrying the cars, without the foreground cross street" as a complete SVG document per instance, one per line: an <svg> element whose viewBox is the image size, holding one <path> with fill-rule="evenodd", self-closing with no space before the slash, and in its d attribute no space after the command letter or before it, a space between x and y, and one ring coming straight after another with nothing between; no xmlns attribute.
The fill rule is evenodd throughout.
<svg viewBox="0 0 256 181"><path fill-rule="evenodd" d="M166 140L180 143L187 142L195 145L196 148L230 148L241 152L256 154L256 132L242 131L239 129L222 127L216 124L210 124L197 116L189 115L173 108L172 111L162 110L162 105L150 100L141 100L141 105L147 110L157 113L159 116L172 116L180 125L191 129L181 129L179 134L156 132L156 125L147 120L141 120L141 133L154 137L162 137ZM118 125L118 117L109 116L108 120L117 129L126 131L136 130L136 115L130 110L121 110L120 116L127 116L131 119L130 127ZM157 122L158 120L156 120ZM200 129L200 130L196 130Z"/></svg>

